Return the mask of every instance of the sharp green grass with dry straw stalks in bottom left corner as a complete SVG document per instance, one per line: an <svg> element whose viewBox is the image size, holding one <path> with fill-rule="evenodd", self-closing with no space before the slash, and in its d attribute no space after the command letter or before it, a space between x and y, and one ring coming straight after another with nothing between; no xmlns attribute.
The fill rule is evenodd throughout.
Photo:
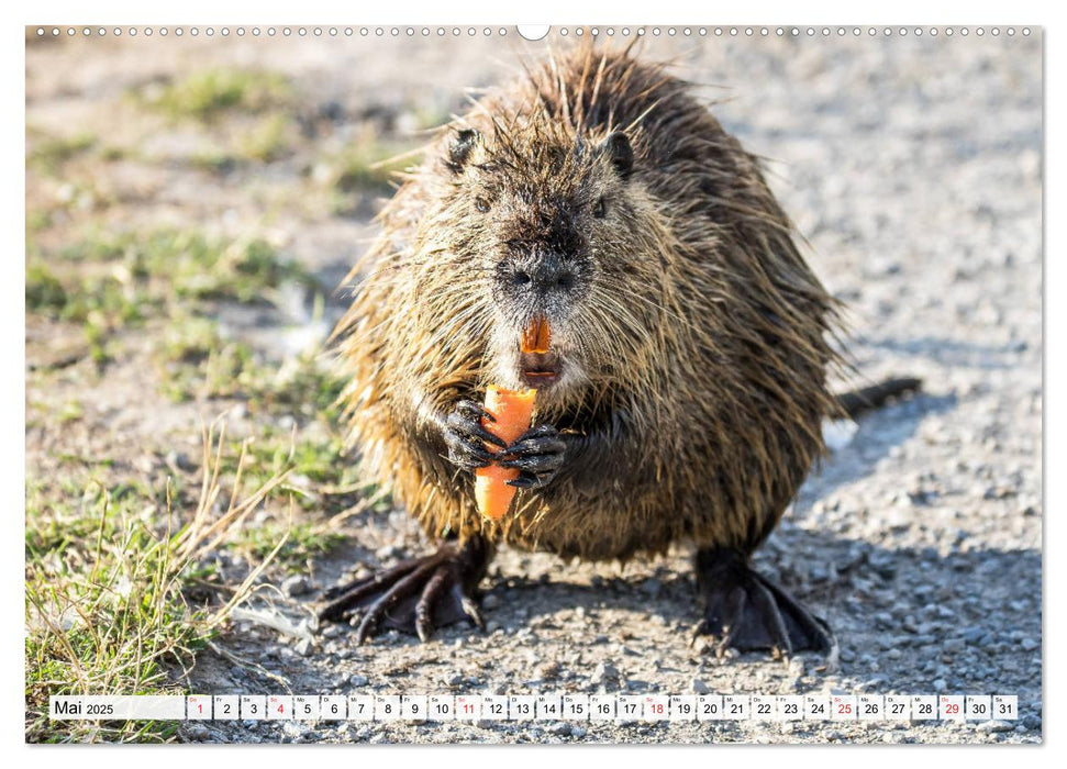
<svg viewBox="0 0 1067 769"><path fill-rule="evenodd" d="M259 566L229 600L190 605L186 593L203 577L208 556L240 540L248 516L286 494L285 472L252 491L240 473L221 473L224 445L222 434L205 435L208 481L190 510L175 510L166 489L160 499L138 481L104 487L90 480L80 493L69 482L27 486L27 742L173 738L171 722L52 721L48 696L186 693L174 672L188 669L289 536L280 526L263 533L254 548ZM232 489L224 491L223 482ZM307 531L296 539L293 553L325 540Z"/></svg>

